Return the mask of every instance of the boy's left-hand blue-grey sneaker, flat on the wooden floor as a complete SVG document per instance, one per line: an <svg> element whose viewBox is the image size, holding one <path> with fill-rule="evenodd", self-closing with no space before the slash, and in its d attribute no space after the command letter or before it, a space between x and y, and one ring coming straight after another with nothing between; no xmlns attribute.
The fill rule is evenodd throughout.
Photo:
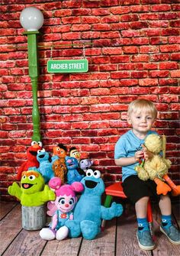
<svg viewBox="0 0 180 256"><path fill-rule="evenodd" d="M149 230L145 230L142 232L137 232L137 241L138 245L143 250L153 250L155 248L155 244L150 235Z"/></svg>

